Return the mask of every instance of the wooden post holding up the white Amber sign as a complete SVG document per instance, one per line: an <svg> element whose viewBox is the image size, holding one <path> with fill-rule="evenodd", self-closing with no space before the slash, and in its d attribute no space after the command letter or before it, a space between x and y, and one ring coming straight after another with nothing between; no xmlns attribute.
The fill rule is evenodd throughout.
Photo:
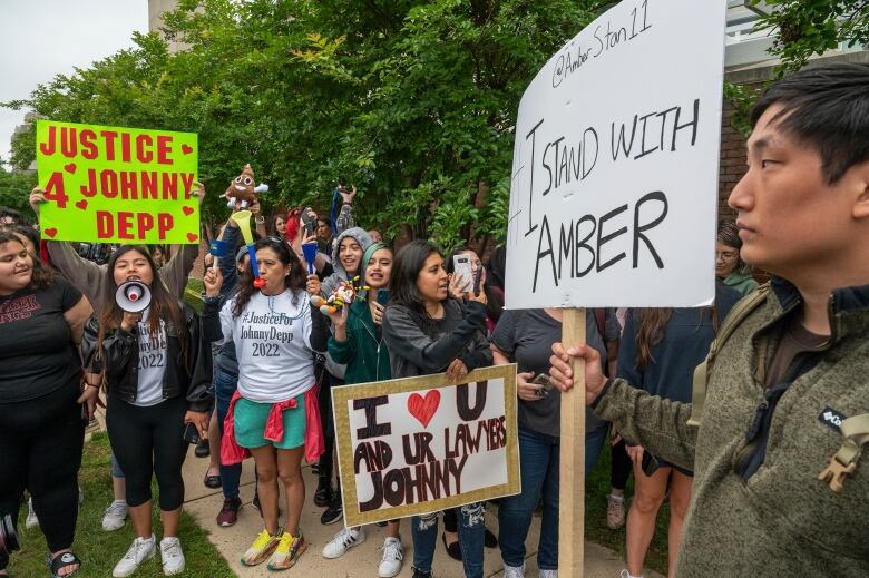
<svg viewBox="0 0 869 578"><path fill-rule="evenodd" d="M585 310L566 308L562 320L565 346L585 343ZM558 463L558 571L583 576L585 559L585 361L573 360L574 388L562 392L562 440Z"/></svg>

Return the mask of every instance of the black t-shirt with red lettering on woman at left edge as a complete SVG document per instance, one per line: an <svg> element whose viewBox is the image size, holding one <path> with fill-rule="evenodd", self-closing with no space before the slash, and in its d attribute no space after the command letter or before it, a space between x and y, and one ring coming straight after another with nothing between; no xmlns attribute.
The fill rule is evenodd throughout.
<svg viewBox="0 0 869 578"><path fill-rule="evenodd" d="M0 403L32 400L79 379L81 362L64 313L81 293L61 278L0 296Z"/></svg>

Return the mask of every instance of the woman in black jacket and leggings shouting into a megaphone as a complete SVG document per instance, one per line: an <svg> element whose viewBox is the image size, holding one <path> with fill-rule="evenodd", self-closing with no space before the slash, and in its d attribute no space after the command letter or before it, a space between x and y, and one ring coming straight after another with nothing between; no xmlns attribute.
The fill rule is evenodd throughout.
<svg viewBox="0 0 869 578"><path fill-rule="evenodd" d="M187 442L206 435L208 343L199 319L169 294L145 247L125 245L108 263L97 320L85 329L88 371L107 389L106 428L126 478L136 539L113 576L129 576L157 551L150 523L150 480L159 487L166 575L184 570L178 520L184 502L182 464ZM185 424L188 424L185 427Z"/></svg>

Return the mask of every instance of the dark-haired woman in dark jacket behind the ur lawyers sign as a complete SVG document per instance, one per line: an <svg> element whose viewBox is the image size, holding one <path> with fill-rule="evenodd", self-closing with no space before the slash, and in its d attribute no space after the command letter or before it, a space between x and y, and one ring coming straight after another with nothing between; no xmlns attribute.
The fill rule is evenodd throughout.
<svg viewBox="0 0 869 578"><path fill-rule="evenodd" d="M491 365L486 340L486 292L467 293L465 303L449 297L443 256L430 243L413 241L392 265L390 301L383 321L392 378L446 372L459 381L477 368ZM459 543L465 576L482 576L484 504L459 508ZM438 539L437 513L414 516L413 576L431 576Z"/></svg>

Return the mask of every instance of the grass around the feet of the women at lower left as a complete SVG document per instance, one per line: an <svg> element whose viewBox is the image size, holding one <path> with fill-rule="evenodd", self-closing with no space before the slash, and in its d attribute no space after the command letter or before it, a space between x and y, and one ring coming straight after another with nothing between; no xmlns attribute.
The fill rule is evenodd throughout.
<svg viewBox="0 0 869 578"><path fill-rule="evenodd" d="M85 493L85 501L79 509L78 525L76 527L76 541L72 545L75 551L84 564L76 574L76 578L104 578L111 576L111 569L120 560L135 538L133 523L127 523L120 530L114 532L102 531L101 520L106 507L111 503L111 479L109 477L109 448L105 433L96 433L90 442L85 445L85 454L79 472L79 484ZM156 486L155 498L158 496ZM23 506L19 518L19 539L21 551L14 552L8 567L12 578L35 578L48 576L45 564L48 547L38 528L25 529L27 518L27 504ZM159 520L159 511L154 507L154 533L159 540L163 526ZM182 513L179 536L187 567L184 574L189 578L231 578L235 576L208 541L207 532L199 528L187 513ZM135 575L137 578L162 577L163 567L157 556L147 562Z"/></svg>

